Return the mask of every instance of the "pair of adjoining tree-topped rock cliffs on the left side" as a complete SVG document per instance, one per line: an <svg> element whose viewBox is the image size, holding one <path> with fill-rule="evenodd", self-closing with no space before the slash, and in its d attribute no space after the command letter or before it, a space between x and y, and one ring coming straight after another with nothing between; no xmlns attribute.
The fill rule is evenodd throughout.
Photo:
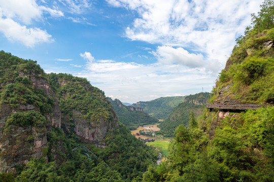
<svg viewBox="0 0 274 182"><path fill-rule="evenodd" d="M67 74L54 74L54 82L35 61L3 51L0 63L0 173L33 157L47 160L52 127L72 129L84 141L106 146L118 119L104 92Z"/></svg>

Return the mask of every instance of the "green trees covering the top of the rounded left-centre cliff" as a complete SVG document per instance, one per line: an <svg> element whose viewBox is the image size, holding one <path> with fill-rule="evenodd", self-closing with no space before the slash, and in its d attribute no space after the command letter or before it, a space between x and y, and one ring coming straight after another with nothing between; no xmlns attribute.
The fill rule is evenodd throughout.
<svg viewBox="0 0 274 182"><path fill-rule="evenodd" d="M57 80L65 84L59 85L56 83ZM72 116L73 111L77 110L89 123L98 123L100 118L114 119L111 105L104 92L92 86L86 78L51 73L49 81L56 85L61 112L67 116Z"/></svg>

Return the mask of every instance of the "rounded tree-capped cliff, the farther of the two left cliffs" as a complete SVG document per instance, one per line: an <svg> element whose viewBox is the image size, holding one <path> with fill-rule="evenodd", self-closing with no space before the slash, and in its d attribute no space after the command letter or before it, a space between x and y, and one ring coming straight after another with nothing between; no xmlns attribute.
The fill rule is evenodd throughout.
<svg viewBox="0 0 274 182"><path fill-rule="evenodd" d="M104 92L86 79L71 75L55 75L63 127L73 129L82 139L104 147L109 130L118 127L118 119Z"/></svg>

